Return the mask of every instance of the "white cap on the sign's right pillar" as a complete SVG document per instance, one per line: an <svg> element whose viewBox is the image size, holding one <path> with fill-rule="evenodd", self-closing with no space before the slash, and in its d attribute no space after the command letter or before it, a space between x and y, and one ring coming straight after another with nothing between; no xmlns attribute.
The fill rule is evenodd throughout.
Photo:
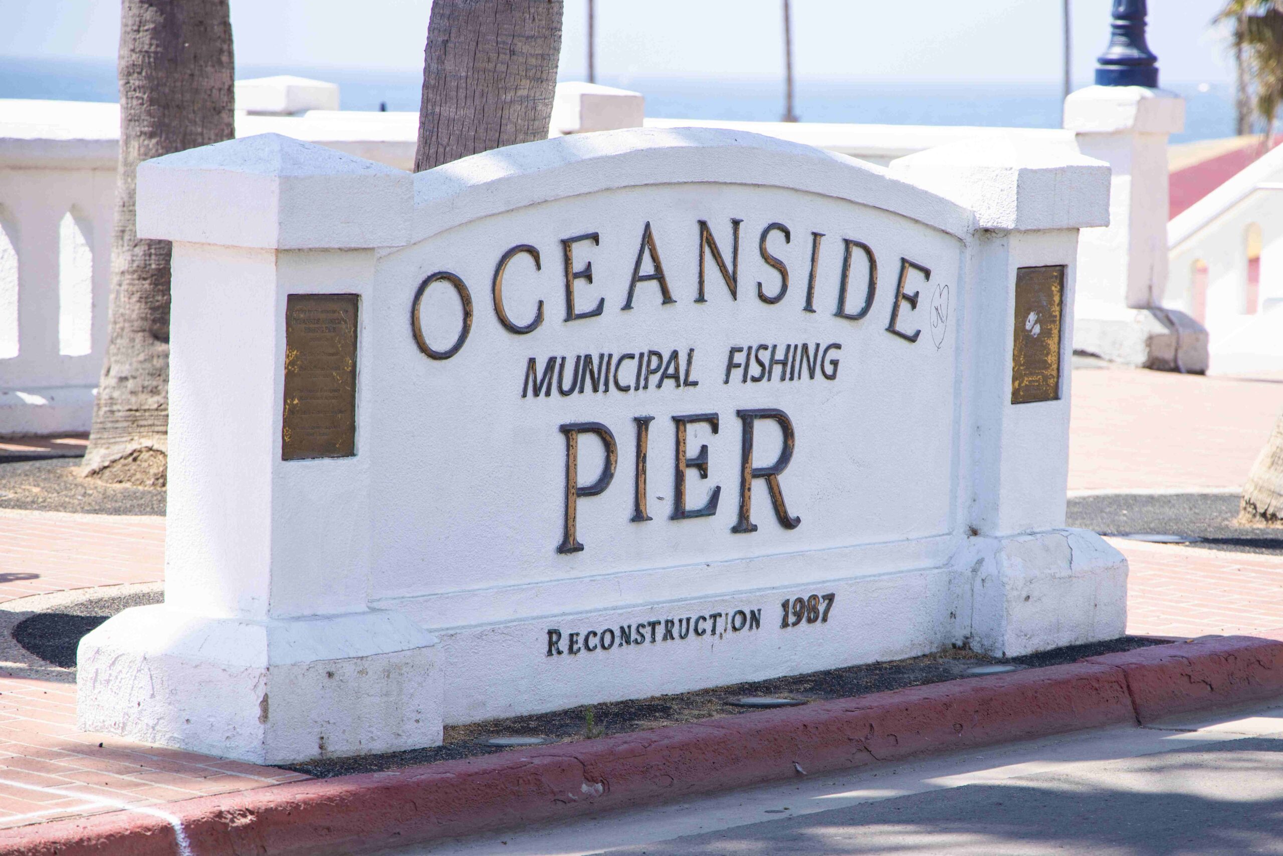
<svg viewBox="0 0 1283 856"><path fill-rule="evenodd" d="M1110 222L1110 167L1065 131L1008 131L898 158L892 175L975 212L980 228L1034 231Z"/></svg>

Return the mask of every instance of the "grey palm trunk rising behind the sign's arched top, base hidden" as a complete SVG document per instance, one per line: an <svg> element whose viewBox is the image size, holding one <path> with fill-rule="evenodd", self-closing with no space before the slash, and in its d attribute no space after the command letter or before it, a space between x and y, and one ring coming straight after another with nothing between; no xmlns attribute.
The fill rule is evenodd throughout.
<svg viewBox="0 0 1283 856"><path fill-rule="evenodd" d="M562 0L432 0L414 172L548 139Z"/></svg>

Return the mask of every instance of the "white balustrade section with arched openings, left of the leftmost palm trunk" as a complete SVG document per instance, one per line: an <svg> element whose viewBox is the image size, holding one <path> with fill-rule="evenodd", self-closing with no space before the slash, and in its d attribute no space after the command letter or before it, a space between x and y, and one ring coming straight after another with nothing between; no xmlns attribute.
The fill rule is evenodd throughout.
<svg viewBox="0 0 1283 856"><path fill-rule="evenodd" d="M0 434L85 431L103 368L114 104L0 108Z"/></svg>

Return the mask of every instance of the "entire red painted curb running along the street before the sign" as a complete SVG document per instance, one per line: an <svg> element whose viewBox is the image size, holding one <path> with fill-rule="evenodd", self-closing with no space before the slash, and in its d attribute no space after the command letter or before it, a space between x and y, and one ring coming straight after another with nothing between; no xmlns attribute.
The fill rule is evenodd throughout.
<svg viewBox="0 0 1283 856"><path fill-rule="evenodd" d="M194 856L349 853L1280 693L1283 643L1229 637L163 809ZM172 856L174 826L121 811L0 833L0 853L126 852Z"/></svg>

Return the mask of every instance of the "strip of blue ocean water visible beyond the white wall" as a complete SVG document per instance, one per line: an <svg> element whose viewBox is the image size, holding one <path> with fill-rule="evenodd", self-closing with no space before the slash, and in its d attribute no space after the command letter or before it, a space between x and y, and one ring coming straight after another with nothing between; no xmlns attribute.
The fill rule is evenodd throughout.
<svg viewBox="0 0 1283 856"><path fill-rule="evenodd" d="M348 110L417 110L421 74L337 68L241 67L237 77L299 74L340 86ZM783 86L774 78L603 78L639 91L647 116L665 118L774 121L783 112ZM1084 83L1085 85L1085 81ZM1234 131L1228 85L1164 81L1185 98L1185 130L1173 142L1229 136ZM117 100L115 65L100 60L0 58L0 98L76 101ZM907 83L885 81L797 81L795 112L803 122L876 124L980 124L1060 127L1060 86L1052 83Z"/></svg>

